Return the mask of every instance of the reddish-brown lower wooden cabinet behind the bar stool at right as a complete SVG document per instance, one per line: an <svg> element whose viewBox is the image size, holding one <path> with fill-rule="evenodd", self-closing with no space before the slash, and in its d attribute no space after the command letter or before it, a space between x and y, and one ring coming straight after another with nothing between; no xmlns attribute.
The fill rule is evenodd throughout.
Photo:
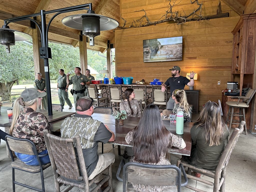
<svg viewBox="0 0 256 192"><path fill-rule="evenodd" d="M226 119L227 119L227 115L228 115L228 109L229 109L229 106L226 105L226 102L227 101L238 101L238 99L236 98L231 98L232 96L227 96L225 95L225 91L222 91L222 101L221 101L221 108L222 108L222 112L223 112L223 120L224 122L226 122ZM242 101L240 99L240 101ZM234 108L234 113L239 113L239 108ZM242 114L242 113L241 113ZM247 129L250 129L250 119L251 119L251 102L249 104L249 107L248 108L245 108L245 119L246 119L246 126L247 126ZM239 120L239 116L233 116L233 120ZM243 120L243 118L242 118ZM235 122L233 121L234 123L238 123L238 122ZM232 124L231 126L232 128L234 127L238 127L237 124Z"/></svg>

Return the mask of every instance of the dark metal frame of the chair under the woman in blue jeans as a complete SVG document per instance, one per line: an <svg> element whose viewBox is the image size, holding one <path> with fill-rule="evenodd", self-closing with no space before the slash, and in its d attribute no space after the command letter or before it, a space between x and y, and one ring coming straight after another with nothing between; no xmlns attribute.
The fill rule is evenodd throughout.
<svg viewBox="0 0 256 192"><path fill-rule="evenodd" d="M44 184L44 173L43 173L43 170L46 169L47 167L51 166L51 163L47 163L47 164L45 164L44 167L43 167L43 165L42 165L42 163L41 163L39 157L44 157L44 156L46 156L46 155L48 155L48 154L38 155L35 144L34 144L32 141L28 140L28 139L16 138L16 137L13 137L13 136L10 136L10 135L6 135L6 136L5 136L6 145L7 145L7 147L8 147L9 154L10 154L10 156L11 156L11 158L12 158L12 162L14 162L14 163L15 163L16 161L20 161L20 160L19 160L19 159L14 160L14 156L13 156L12 151L15 151L15 152L19 153L19 150L17 150L17 149L14 148L13 146L10 146L8 140L21 141L21 142L25 142L25 143L27 142L27 143L30 145L30 147L31 147L31 149L32 149L32 151L33 151L33 153L34 153L33 155L36 155L36 158L38 159L38 163L39 163L38 166L40 167L40 170L39 170L39 171L37 171L37 172L30 172L30 171L28 171L28 170L23 169L23 167L20 167L20 168L16 168L16 167L15 167L15 168L14 168L14 167L13 167L13 164L12 164L13 192L15 192L15 184L16 184L16 185L23 186L23 187L26 187L26 188L29 188L29 189L33 189L33 190L36 190L36 191L45 192L45 184ZM25 146L25 145L23 145L23 147L24 147L24 146ZM12 149L12 150L11 150L11 149ZM25 150L25 149L23 149L23 151L24 151L24 150ZM31 151L31 150L30 150L30 151ZM28 154L30 154L30 153L28 152ZM22 162L22 161L20 161L20 162ZM24 163L24 165L26 165L26 164ZM31 167L31 168L35 168L35 167L38 168L38 166L26 165L26 167ZM19 183L19 182L15 181L15 169L22 170L22 171L25 171L25 172L28 172L28 173L39 173L39 172L40 172L41 183L42 183L42 189L35 188L35 187L30 186L30 185L26 185L26 184Z"/></svg>

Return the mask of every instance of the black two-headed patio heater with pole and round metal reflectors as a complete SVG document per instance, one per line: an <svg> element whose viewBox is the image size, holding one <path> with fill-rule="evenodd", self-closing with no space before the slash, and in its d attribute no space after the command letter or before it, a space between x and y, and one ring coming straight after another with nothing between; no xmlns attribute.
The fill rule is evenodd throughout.
<svg viewBox="0 0 256 192"><path fill-rule="evenodd" d="M25 41L31 38L30 35L10 29L8 24L12 22L30 20L35 23L40 31L41 36L41 47L39 49L40 58L44 59L44 69L45 69L45 79L47 88L47 106L48 115L52 115L51 106L51 88L50 88L50 76L49 76L49 62L51 59L51 48L48 47L48 31L52 20L61 13L67 13L78 10L87 10L86 14L71 15L62 19L62 23L70 28L82 30L82 34L89 38L90 46L94 46L94 37L100 35L100 31L110 30L118 27L119 23L109 17L103 15L95 14L92 10L92 3L87 3L83 5L76 5L72 7L66 7L61 9L55 9L50 11L40 10L40 13L35 13L31 15L25 15L20 17L13 17L4 20L4 25L0 28L0 44L6 46L6 52L10 52L10 46L15 45L15 41ZM46 27L46 15L56 13L50 19ZM40 16L41 22L38 24L36 20L30 17Z"/></svg>

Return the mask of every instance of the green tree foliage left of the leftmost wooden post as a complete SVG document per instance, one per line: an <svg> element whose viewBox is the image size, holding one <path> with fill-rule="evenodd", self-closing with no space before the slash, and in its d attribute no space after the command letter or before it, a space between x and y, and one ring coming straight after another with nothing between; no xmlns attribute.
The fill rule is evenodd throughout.
<svg viewBox="0 0 256 192"><path fill-rule="evenodd" d="M5 46L0 45L0 82L14 79L34 79L33 47L24 42L16 42L7 54Z"/></svg>

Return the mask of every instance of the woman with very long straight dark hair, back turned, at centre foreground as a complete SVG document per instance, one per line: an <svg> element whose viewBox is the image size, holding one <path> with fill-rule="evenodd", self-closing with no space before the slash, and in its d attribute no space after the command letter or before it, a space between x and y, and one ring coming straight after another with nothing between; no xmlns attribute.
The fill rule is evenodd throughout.
<svg viewBox="0 0 256 192"><path fill-rule="evenodd" d="M125 140L133 143L134 157L131 161L166 165L170 162L166 159L167 149L174 146L179 149L186 147L184 140L170 133L163 124L158 107L149 104L145 107L138 125L129 133ZM162 191L164 187L153 185L133 184L137 191Z"/></svg>

